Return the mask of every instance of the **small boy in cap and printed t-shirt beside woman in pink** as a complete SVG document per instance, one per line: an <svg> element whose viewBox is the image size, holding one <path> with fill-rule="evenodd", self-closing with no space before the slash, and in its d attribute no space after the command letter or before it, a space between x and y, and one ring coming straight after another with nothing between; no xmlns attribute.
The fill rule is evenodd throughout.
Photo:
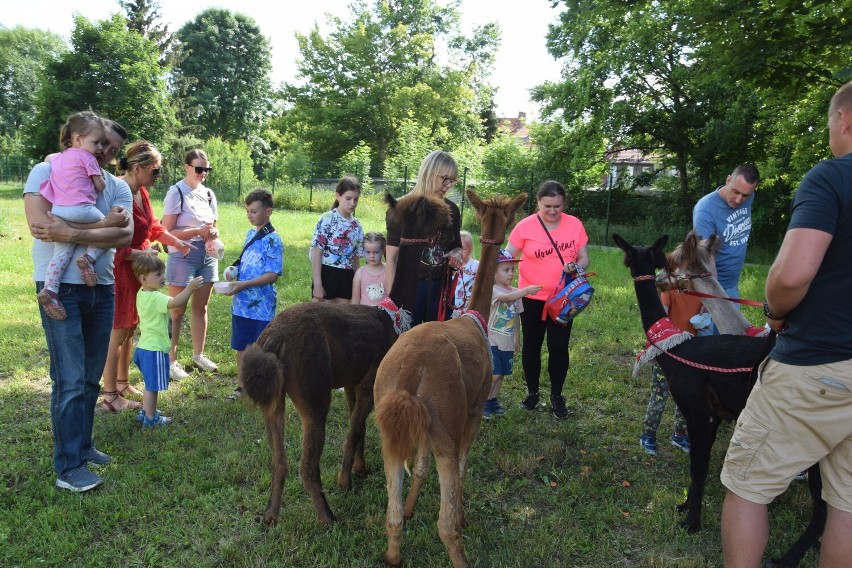
<svg viewBox="0 0 852 568"><path fill-rule="evenodd" d="M488 341L491 344L491 358L494 360L494 370L491 377L491 392L482 417L490 420L494 416L503 415L503 407L497 400L503 377L512 374L513 357L521 349L520 314L524 311L521 298L527 294L535 294L541 286L527 286L520 290L512 286L515 278L515 264L520 259L512 258L507 251L501 250L497 255L497 272L494 275L494 288L491 295L491 314L488 317Z"/></svg>

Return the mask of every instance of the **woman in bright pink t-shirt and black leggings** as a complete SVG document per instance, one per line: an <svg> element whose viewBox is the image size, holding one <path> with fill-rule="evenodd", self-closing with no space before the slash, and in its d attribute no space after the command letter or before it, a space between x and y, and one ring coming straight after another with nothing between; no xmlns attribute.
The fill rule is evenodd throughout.
<svg viewBox="0 0 852 568"><path fill-rule="evenodd" d="M574 272L576 267L589 267L586 245L589 238L579 219L562 212L565 207L565 188L555 181L546 181L536 195L538 211L521 220L509 235L506 249L513 257L521 254L518 265L518 288L540 285L541 290L523 298L521 329L524 344L521 362L527 382L527 396L521 402L526 410L538 406L539 375L541 374L541 347L547 336L550 375L550 404L553 415L560 420L568 417L562 386L568 376L568 341L571 339L571 322L562 325L548 316L542 321L545 302L559 283L562 272ZM548 235L549 233L549 235ZM558 252L554 250L556 243ZM561 260L560 260L561 256Z"/></svg>

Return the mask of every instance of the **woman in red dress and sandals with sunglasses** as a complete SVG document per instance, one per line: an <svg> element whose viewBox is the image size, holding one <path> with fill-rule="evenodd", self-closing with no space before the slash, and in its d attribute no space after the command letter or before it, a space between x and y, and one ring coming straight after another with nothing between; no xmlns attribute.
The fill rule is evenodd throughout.
<svg viewBox="0 0 852 568"><path fill-rule="evenodd" d="M125 398L126 394L141 394L128 381L131 338L139 324L136 293L140 284L133 275L133 261L141 255L157 254L157 249L151 246L153 241L172 245L184 254L192 248L189 243L169 233L154 217L148 188L160 177L161 164L160 152L147 140L128 146L125 157L119 161L119 170L124 173L121 179L127 182L133 195L133 238L130 246L115 251L115 316L103 374L102 406L107 412L141 407L138 402Z"/></svg>

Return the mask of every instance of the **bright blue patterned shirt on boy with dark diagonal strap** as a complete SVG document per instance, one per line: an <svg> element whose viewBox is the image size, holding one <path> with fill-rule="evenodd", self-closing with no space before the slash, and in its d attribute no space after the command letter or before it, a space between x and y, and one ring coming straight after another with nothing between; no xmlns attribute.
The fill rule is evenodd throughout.
<svg viewBox="0 0 852 568"><path fill-rule="evenodd" d="M255 233L257 228L249 229L245 242L248 243ZM280 276L284 270L284 243L278 233L269 233L253 242L243 253L238 268L237 280L240 281L251 280L267 272ZM275 319L276 302L275 284L252 286L234 295L231 313L248 319L272 321Z"/></svg>

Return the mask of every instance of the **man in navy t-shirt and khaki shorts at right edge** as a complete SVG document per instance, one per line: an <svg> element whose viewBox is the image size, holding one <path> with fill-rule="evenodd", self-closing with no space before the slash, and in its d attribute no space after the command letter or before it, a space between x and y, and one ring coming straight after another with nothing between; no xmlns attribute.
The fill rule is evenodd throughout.
<svg viewBox="0 0 852 568"><path fill-rule="evenodd" d="M820 566L852 558L852 82L831 99L835 158L802 179L769 270L764 312L779 332L725 456L726 566L759 566L767 506L819 462L828 520Z"/></svg>

